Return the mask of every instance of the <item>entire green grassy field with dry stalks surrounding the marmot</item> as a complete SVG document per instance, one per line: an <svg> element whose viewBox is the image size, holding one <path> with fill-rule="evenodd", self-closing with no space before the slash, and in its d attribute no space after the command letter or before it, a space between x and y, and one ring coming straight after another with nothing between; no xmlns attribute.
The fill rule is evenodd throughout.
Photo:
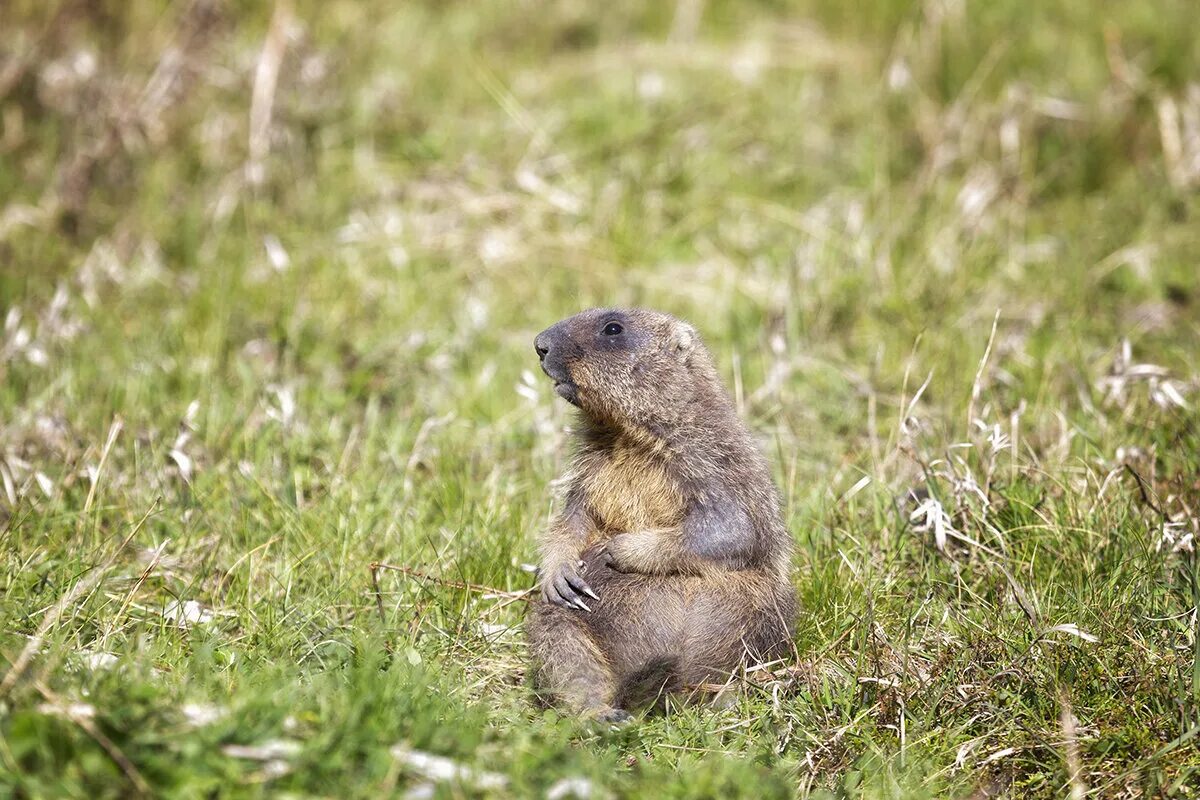
<svg viewBox="0 0 1200 800"><path fill-rule="evenodd" d="M1200 794L1192 0L2 16L0 796ZM524 679L594 305L803 606L619 732Z"/></svg>

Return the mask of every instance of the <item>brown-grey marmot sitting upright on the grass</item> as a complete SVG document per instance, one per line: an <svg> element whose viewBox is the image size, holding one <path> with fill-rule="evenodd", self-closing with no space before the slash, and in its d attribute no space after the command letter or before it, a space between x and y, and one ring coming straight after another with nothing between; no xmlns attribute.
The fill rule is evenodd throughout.
<svg viewBox="0 0 1200 800"><path fill-rule="evenodd" d="M696 330L592 309L538 335L582 411L527 630L540 698L606 721L792 646L792 539Z"/></svg>

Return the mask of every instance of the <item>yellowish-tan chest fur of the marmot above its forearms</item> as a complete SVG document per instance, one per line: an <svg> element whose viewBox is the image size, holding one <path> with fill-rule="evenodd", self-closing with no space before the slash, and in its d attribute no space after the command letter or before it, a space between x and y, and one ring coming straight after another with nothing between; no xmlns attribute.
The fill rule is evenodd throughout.
<svg viewBox="0 0 1200 800"><path fill-rule="evenodd" d="M674 528L683 521L683 493L660 456L617 443L583 455L578 468L580 488L600 539Z"/></svg>

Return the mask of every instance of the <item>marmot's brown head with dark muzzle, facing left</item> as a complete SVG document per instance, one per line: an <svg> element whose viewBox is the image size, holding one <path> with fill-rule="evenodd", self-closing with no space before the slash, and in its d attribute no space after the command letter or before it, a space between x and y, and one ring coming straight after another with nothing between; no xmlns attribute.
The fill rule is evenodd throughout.
<svg viewBox="0 0 1200 800"><path fill-rule="evenodd" d="M716 383L688 323L643 308L592 308L534 339L554 392L598 422L655 427Z"/></svg>

